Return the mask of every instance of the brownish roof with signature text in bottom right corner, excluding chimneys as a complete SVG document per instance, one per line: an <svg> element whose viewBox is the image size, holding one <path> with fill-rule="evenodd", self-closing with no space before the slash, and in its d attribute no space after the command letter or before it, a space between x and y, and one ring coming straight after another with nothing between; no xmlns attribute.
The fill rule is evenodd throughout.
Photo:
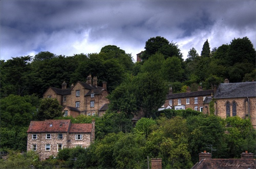
<svg viewBox="0 0 256 169"><path fill-rule="evenodd" d="M255 159L202 159L192 168L255 168Z"/></svg>

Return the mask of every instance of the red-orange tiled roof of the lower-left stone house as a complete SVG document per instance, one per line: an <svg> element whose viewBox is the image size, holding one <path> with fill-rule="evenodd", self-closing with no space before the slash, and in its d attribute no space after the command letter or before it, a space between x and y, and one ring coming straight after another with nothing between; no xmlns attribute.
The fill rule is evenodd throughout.
<svg viewBox="0 0 256 169"><path fill-rule="evenodd" d="M80 123L71 124L71 120L45 120L31 121L28 133L44 133L44 132L70 132L70 133L90 133L92 132L92 124Z"/></svg>

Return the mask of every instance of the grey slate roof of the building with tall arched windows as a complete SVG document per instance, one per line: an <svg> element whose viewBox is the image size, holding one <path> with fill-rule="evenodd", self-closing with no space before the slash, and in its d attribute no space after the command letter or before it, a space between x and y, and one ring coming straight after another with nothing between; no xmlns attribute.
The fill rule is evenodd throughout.
<svg viewBox="0 0 256 169"><path fill-rule="evenodd" d="M256 82L221 83L214 98L241 98L255 97Z"/></svg>

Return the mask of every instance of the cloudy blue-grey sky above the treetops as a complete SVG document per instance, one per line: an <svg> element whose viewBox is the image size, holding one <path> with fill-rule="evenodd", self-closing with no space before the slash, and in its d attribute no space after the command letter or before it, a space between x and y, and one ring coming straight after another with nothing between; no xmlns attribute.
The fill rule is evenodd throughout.
<svg viewBox="0 0 256 169"><path fill-rule="evenodd" d="M116 45L136 54L156 36L210 48L248 37L255 48L255 1L1 1L1 60L40 51L72 56Z"/></svg>

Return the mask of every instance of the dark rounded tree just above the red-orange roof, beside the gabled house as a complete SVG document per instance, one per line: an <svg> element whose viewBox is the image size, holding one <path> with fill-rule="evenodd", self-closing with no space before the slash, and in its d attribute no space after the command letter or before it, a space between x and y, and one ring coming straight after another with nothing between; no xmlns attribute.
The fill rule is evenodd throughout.
<svg viewBox="0 0 256 169"><path fill-rule="evenodd" d="M54 119L63 116L62 106L57 99L45 98L41 99L37 112L37 118L40 121Z"/></svg>

